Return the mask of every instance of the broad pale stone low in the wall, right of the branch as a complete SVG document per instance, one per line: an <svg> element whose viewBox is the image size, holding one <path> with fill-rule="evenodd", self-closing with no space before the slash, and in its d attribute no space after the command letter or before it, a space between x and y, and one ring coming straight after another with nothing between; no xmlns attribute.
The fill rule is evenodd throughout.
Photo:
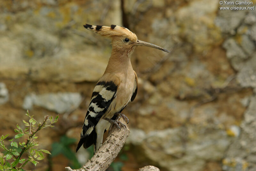
<svg viewBox="0 0 256 171"><path fill-rule="evenodd" d="M199 128L179 127L147 134L139 129L131 129L126 143L136 145L145 151L148 159L167 170L201 170L206 160L218 161L223 158L231 138L221 129L210 126Z"/></svg>

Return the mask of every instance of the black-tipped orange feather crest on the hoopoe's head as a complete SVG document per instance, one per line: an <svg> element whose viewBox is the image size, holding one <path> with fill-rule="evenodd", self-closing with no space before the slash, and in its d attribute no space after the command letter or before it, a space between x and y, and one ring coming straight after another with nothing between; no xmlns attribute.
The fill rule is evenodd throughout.
<svg viewBox="0 0 256 171"><path fill-rule="evenodd" d="M98 33L99 35L106 37L127 35L130 37L134 37L135 40L137 39L137 36L125 27L120 27L116 25L111 25L110 27L99 25L93 26L90 24L85 24L84 27L88 30L92 30L95 33Z"/></svg>

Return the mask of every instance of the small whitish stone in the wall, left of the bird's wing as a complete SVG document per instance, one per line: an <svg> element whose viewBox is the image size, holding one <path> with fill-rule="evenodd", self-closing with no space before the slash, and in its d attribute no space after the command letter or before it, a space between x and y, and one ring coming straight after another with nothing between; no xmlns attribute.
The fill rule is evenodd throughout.
<svg viewBox="0 0 256 171"><path fill-rule="evenodd" d="M81 102L82 96L79 93L31 94L25 97L23 108L32 109L33 105L37 105L57 113L69 113L74 111Z"/></svg>

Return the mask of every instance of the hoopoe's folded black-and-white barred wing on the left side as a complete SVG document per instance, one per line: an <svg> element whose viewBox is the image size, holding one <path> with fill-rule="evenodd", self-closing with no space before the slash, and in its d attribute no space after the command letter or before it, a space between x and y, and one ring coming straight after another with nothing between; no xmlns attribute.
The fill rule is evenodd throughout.
<svg viewBox="0 0 256 171"><path fill-rule="evenodd" d="M113 81L101 81L96 84L84 119L83 129L76 151L82 144L84 144L84 148L96 144L97 134L95 132L95 126L103 114L106 113L113 99L116 98L117 87L118 85Z"/></svg>

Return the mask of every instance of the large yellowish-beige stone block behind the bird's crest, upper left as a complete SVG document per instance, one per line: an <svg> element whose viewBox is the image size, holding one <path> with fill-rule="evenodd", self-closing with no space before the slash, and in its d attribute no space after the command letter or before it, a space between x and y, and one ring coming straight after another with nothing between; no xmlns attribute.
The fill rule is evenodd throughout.
<svg viewBox="0 0 256 171"><path fill-rule="evenodd" d="M58 4L60 6L56 6ZM98 81L110 56L109 42L85 30L83 25L103 24L103 20L106 25L122 25L118 0L33 3L24 0L2 4L0 8L4 9L0 15L3 30L0 41L5 42L0 46L2 78ZM102 13L98 13L99 8L104 9ZM8 13L10 11L20 12ZM96 48L99 42L102 45Z"/></svg>

